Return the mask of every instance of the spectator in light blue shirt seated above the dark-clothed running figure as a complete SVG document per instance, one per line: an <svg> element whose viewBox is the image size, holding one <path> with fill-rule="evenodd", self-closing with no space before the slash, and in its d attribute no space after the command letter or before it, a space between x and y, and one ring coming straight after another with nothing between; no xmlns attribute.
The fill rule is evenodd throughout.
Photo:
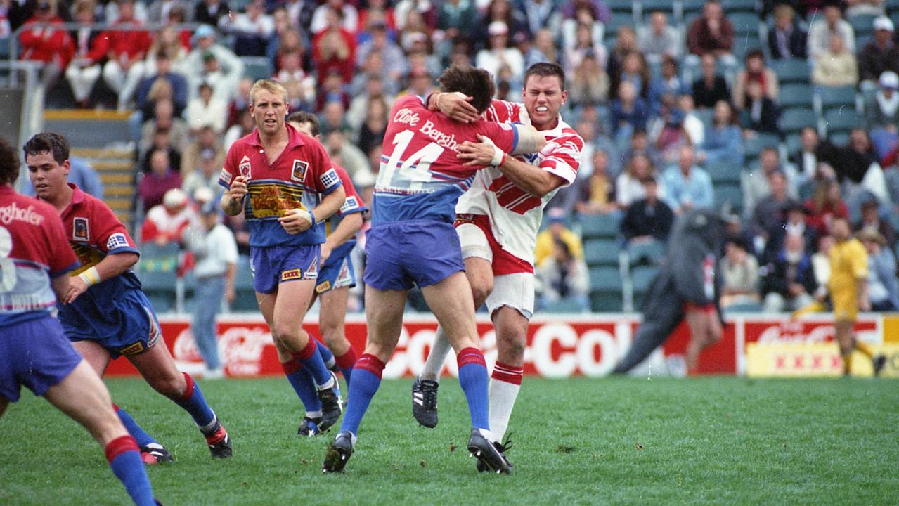
<svg viewBox="0 0 899 506"><path fill-rule="evenodd" d="M663 173L665 203L675 214L690 209L711 209L715 205L715 191L708 173L696 164L692 146L681 146L677 164Z"/></svg>

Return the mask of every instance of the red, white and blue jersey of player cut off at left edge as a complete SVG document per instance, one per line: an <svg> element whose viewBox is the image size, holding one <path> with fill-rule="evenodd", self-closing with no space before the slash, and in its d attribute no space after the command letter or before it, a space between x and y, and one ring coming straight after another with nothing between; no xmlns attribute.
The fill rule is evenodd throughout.
<svg viewBox="0 0 899 506"><path fill-rule="evenodd" d="M0 327L49 315L50 279L77 266L56 209L0 185Z"/></svg>

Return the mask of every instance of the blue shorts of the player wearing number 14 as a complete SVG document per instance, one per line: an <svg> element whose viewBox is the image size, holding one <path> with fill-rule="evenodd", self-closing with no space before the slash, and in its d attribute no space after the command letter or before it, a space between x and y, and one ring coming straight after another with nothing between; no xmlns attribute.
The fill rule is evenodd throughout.
<svg viewBox="0 0 899 506"><path fill-rule="evenodd" d="M373 226L365 254L362 279L379 290L424 288L465 271L456 229L432 219Z"/></svg>

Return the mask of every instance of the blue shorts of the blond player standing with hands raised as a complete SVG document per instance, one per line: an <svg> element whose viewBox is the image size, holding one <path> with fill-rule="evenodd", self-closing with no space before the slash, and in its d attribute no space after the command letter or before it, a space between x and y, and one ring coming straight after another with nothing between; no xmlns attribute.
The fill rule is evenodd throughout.
<svg viewBox="0 0 899 506"><path fill-rule="evenodd" d="M253 288L259 293L271 293L279 283L316 280L321 256L321 244L251 247Z"/></svg>

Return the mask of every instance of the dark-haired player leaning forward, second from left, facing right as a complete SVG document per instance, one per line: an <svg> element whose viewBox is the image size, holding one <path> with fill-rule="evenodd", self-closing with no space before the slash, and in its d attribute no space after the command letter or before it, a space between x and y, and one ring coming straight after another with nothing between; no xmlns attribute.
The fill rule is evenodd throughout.
<svg viewBox="0 0 899 506"><path fill-rule="evenodd" d="M156 314L131 271L139 253L128 230L109 206L67 182L66 138L40 133L23 150L37 197L57 209L67 240L81 261L58 306L68 339L101 377L111 359L124 355L156 392L191 414L212 457L230 457L231 440L225 427L200 386L175 367ZM127 413L119 411L119 415L138 439L148 463L172 459Z"/></svg>

